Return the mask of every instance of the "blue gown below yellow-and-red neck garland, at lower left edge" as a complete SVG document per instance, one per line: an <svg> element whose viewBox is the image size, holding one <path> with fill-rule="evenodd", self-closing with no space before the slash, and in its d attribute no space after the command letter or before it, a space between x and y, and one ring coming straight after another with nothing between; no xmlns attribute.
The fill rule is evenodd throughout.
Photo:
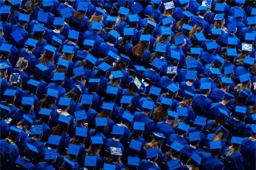
<svg viewBox="0 0 256 170"><path fill-rule="evenodd" d="M5 157L6 159L9 159L11 162L15 162L15 159L19 156L19 149L18 147L7 141L6 139L0 140L1 145L1 156Z"/></svg>

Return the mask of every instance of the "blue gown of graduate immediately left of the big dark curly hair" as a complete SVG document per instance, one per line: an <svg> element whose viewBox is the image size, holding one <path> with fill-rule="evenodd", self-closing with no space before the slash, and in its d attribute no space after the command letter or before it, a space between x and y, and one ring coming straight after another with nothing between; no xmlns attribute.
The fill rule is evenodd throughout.
<svg viewBox="0 0 256 170"><path fill-rule="evenodd" d="M151 120L147 115L144 115L142 112L134 112L134 120L145 123L145 130L143 131L143 136L147 136L153 132L154 121Z"/></svg>

